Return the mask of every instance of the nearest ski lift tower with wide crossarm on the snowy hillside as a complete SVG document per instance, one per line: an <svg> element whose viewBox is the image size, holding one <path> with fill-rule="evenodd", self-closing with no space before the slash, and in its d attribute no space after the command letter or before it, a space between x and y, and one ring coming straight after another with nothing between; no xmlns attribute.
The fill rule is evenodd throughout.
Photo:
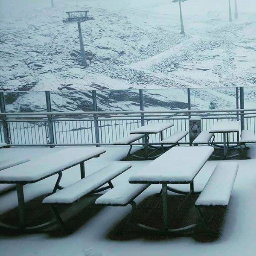
<svg viewBox="0 0 256 256"><path fill-rule="evenodd" d="M76 11L76 12L66 12L68 15L68 18L62 20L64 23L74 23L77 22L78 26L78 32L79 32L79 42L80 42L80 50L81 50L81 58L82 58L82 64L86 65L86 55L84 52L84 42L81 32L81 22L87 21L87 20L93 20L93 17L88 17L87 13L89 11Z"/></svg>

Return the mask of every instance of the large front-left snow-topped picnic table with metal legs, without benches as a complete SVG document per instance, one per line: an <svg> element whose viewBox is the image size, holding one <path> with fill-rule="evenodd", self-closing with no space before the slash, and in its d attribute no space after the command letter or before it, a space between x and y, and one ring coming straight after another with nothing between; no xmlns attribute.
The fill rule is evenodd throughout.
<svg viewBox="0 0 256 256"><path fill-rule="evenodd" d="M23 186L58 174L58 179L53 189L53 193L55 193L57 189L63 188L59 183L64 170L80 164L81 179L83 179L85 177L84 162L93 157L99 157L105 151L104 148L69 148L1 171L0 183L16 184L20 223L19 227L0 223L0 227L22 230L40 230L43 227L45 228L46 225L49 225L48 223L35 227L26 227Z"/></svg>

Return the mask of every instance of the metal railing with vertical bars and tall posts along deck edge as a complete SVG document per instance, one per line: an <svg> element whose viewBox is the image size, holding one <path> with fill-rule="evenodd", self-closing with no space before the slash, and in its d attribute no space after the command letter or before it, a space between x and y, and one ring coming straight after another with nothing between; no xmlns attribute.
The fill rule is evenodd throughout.
<svg viewBox="0 0 256 256"><path fill-rule="evenodd" d="M52 111L49 91L45 92L45 112L6 112L4 92L0 92L0 141L10 145L112 145L137 127L151 122L174 122L164 131L164 137L175 131L189 130L191 116L201 116L202 130L209 130L217 121L237 120L241 130L256 130L256 109L244 109L244 88L236 87L236 108L191 110L191 90L187 89L188 108L185 110L144 111L143 90L138 90L140 111L98 111L96 90L91 91L92 110L80 112ZM194 89L193 89L194 90ZM9 92L8 92L9 93ZM87 93L88 95L88 93ZM223 137L217 134L215 141ZM230 134L237 143L239 134ZM151 143L160 142L160 134L150 136ZM138 144L142 144L140 140ZM181 143L189 143L187 135Z"/></svg>

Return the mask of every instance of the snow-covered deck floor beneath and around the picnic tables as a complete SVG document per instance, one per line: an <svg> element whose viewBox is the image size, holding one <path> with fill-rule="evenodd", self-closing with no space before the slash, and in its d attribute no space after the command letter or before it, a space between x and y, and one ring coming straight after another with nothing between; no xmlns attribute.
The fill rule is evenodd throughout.
<svg viewBox="0 0 256 256"><path fill-rule="evenodd" d="M100 169L114 160L125 157L128 146L105 147L107 152L99 158L94 158L85 163L86 175L96 169ZM135 148L135 147L134 147ZM192 238L169 238L160 241L145 241L143 239L128 241L113 241L106 238L106 234L130 212L127 207L104 207L93 218L87 221L75 233L64 237L52 237L47 233L24 234L21 236L5 236L0 234L0 254L5 256L162 256L192 255L192 256L216 256L216 255L255 255L256 244L256 146L250 145L248 151L251 160L235 160L239 163L239 171L236 177L233 192L225 215L222 236L214 242L201 243ZM1 149L0 161L12 157L41 157L61 148L6 148ZM233 160L230 160L233 161ZM217 163L221 161L209 161L195 178L195 190L202 189L212 174ZM138 173L150 161L133 161L132 168L113 180L113 184L119 184L130 175ZM30 200L52 190L56 176L49 177L35 184L24 187L25 199ZM67 186L80 178L79 166L72 171L63 172L62 186ZM2 186L2 185L0 185ZM174 186L174 185L173 185ZM174 187L183 189L188 185ZM151 185L140 195L136 202L154 192L160 191L160 185ZM0 214L17 206L16 192L12 191L0 195ZM146 212L145 212L146 213Z"/></svg>

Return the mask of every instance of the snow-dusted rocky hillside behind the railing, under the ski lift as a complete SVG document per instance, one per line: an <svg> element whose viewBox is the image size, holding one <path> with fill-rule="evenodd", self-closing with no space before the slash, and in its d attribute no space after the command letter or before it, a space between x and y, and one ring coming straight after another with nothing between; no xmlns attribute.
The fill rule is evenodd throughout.
<svg viewBox="0 0 256 256"><path fill-rule="evenodd" d="M55 8L51 8L50 0L0 0L0 89L63 90L63 96L56 94L56 108L76 110L84 109L87 95L73 95L70 90L255 85L256 2L253 0L238 0L239 20L233 23L228 21L228 1L182 3L185 35L180 34L178 4L172 1L54 2ZM96 54L85 68L80 66L76 23L61 22L67 17L65 12L82 9L88 9L89 15L95 17L81 24L85 49ZM60 22L13 33L55 21ZM47 29L53 26L58 27ZM41 29L46 30L26 35ZM26 36L15 38L20 35ZM208 107L213 98L220 107L230 107L230 102L225 101L233 93L234 89L195 91L194 102ZM180 90L160 94L165 100L175 101L172 98L181 98L184 93ZM250 95L254 97L255 90ZM122 109L129 108L128 99L123 97L126 104L121 104ZM25 99L32 100L32 109L45 107L38 97ZM116 108L103 97L99 99L103 109ZM178 100L186 102L186 97ZM27 105L23 108L29 109Z"/></svg>

